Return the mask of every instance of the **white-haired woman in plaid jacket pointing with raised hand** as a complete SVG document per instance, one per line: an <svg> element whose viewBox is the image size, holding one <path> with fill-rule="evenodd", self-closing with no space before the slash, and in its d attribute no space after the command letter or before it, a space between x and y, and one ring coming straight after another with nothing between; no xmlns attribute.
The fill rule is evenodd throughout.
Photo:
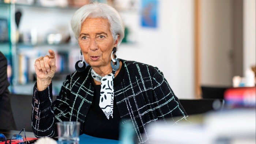
<svg viewBox="0 0 256 144"><path fill-rule="evenodd" d="M67 76L52 103L55 54L49 50L49 56L35 61L35 136L54 137L56 122L79 121L81 133L118 139L119 123L124 120L123 124L133 123L138 142L143 143L145 124L172 121L175 116L186 119L187 114L158 68L116 57L124 25L114 8L101 3L84 5L75 12L71 26L83 59L90 66L85 68L84 60L78 61L77 71Z"/></svg>

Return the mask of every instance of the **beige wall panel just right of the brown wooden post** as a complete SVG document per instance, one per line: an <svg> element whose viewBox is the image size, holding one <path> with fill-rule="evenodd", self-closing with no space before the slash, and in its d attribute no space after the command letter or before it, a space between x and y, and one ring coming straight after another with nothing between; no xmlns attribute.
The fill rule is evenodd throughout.
<svg viewBox="0 0 256 144"><path fill-rule="evenodd" d="M202 0L202 85L231 86L231 0Z"/></svg>

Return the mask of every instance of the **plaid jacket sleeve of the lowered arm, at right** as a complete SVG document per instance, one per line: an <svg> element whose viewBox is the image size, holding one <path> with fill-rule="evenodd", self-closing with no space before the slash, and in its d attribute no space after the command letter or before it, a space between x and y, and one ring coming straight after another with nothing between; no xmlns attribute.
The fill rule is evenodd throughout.
<svg viewBox="0 0 256 144"><path fill-rule="evenodd" d="M178 98L174 95L163 73L156 67L153 69L152 85L153 99L158 119L164 122L166 122L166 120L173 120L175 123L180 120L187 120L188 115L186 111L181 106Z"/></svg>

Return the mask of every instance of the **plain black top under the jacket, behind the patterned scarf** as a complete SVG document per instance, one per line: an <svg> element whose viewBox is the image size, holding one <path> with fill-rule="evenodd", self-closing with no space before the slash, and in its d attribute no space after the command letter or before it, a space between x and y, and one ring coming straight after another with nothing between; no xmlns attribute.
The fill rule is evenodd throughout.
<svg viewBox="0 0 256 144"><path fill-rule="evenodd" d="M122 82L124 78L124 72L124 65L122 65L118 75L114 78L114 87ZM84 121L84 134L105 139L118 140L119 124L121 118L117 109L116 99L114 98L113 118L109 117L108 120L106 115L99 107L101 85L95 85L93 77L91 75L90 81L94 86L94 95L92 104Z"/></svg>

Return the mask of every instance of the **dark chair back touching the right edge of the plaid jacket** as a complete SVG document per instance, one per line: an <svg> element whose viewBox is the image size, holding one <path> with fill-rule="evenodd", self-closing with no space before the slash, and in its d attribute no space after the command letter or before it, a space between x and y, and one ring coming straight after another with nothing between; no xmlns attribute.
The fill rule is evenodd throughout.
<svg viewBox="0 0 256 144"><path fill-rule="evenodd" d="M223 106L222 99L180 99L180 103L188 115L219 110Z"/></svg>

